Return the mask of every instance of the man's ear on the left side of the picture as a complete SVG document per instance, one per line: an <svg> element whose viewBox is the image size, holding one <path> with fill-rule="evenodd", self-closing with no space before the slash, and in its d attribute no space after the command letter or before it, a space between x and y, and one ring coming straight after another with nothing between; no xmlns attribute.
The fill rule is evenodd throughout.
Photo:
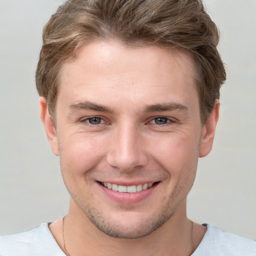
<svg viewBox="0 0 256 256"><path fill-rule="evenodd" d="M59 155L56 130L53 125L53 121L49 114L46 100L44 97L40 97L40 117L44 125L44 129L46 131L51 150L55 155Z"/></svg>

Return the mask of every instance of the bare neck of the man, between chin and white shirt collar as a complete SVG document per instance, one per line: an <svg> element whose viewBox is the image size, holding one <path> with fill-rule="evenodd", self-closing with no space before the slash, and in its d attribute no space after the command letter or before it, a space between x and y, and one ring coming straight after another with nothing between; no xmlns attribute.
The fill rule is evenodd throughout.
<svg viewBox="0 0 256 256"><path fill-rule="evenodd" d="M182 203L184 205L180 205L162 226L141 238L121 239L108 236L98 230L83 212L71 205L64 217L64 229L62 230L60 220L58 228L54 228L53 222L50 230L60 248L70 256L84 255L84 252L86 255L98 256L191 255L201 241L205 229L198 224L193 226L185 214L185 201Z"/></svg>

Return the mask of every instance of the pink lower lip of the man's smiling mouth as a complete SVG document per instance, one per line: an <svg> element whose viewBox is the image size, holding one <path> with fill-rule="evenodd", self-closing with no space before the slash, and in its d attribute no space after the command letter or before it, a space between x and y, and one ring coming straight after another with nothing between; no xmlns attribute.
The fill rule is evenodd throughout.
<svg viewBox="0 0 256 256"><path fill-rule="evenodd" d="M122 204L134 204L144 200L154 191L154 189L158 186L158 184L159 182L152 185L150 188L147 188L139 192L124 193L124 192L114 191L98 183L99 187L103 190L103 192L106 194L107 197Z"/></svg>

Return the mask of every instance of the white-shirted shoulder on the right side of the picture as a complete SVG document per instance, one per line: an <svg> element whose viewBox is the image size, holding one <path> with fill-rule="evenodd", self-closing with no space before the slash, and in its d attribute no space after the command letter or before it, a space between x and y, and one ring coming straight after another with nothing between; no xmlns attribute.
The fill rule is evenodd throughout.
<svg viewBox="0 0 256 256"><path fill-rule="evenodd" d="M256 256L256 242L237 234L223 232L219 227L206 225L207 231L192 256Z"/></svg>

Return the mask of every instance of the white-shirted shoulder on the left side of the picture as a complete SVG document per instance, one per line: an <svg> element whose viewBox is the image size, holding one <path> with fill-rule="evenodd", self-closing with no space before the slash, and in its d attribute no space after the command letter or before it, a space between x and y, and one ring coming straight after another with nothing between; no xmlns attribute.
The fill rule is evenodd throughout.
<svg viewBox="0 0 256 256"><path fill-rule="evenodd" d="M52 236L48 223L30 231L0 236L1 256L65 255Z"/></svg>

